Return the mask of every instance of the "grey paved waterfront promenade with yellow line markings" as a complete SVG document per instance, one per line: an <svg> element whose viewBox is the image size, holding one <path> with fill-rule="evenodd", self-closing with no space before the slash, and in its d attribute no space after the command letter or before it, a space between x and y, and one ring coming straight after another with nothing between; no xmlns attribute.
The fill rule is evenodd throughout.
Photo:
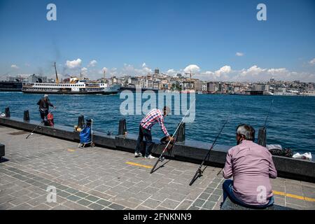
<svg viewBox="0 0 315 224"><path fill-rule="evenodd" d="M188 186L199 165L165 161L149 174L155 160L0 126L6 162L0 163L0 209L219 209L221 169L207 167ZM57 201L48 202L48 186ZM272 180L275 203L315 209L315 184Z"/></svg>

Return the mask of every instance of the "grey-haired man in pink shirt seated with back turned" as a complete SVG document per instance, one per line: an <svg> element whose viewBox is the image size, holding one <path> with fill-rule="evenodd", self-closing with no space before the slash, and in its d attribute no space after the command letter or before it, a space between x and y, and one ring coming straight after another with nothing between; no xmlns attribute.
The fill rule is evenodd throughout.
<svg viewBox="0 0 315 224"><path fill-rule="evenodd" d="M237 146L226 156L223 176L223 201L226 197L244 207L263 208L274 203L269 178L276 178L276 168L267 148L255 144L255 130L250 125L239 125Z"/></svg>

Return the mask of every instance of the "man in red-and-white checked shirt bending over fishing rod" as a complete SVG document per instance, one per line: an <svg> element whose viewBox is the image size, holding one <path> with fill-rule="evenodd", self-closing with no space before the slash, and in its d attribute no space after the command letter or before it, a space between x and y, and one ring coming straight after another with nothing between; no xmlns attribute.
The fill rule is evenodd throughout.
<svg viewBox="0 0 315 224"><path fill-rule="evenodd" d="M159 123L161 126L162 132L165 134L166 137L168 137L168 141L172 139L172 137L169 136L169 133L167 132L167 129L164 125L164 117L167 116L170 113L170 109L168 106L165 106L163 108L163 111L160 109L153 109L150 111L144 119L141 120L141 123L139 125L139 137L137 140L137 146L134 153L135 157L142 156L140 153L140 144L141 141L145 138L146 139L146 159L154 159L154 157L151 155L151 151L153 148L153 141L152 141L152 134L151 134L151 128L156 123Z"/></svg>

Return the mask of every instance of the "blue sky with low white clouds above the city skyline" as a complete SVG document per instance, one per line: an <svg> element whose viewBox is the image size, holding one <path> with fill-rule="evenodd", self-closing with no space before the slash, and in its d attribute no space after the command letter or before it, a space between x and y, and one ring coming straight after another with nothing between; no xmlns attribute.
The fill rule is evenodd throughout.
<svg viewBox="0 0 315 224"><path fill-rule="evenodd" d="M46 20L48 3L57 21ZM258 3L267 21L256 19ZM56 61L63 75L92 78L104 67L117 76L158 67L203 80L315 82L314 23L313 0L0 0L0 76L50 76Z"/></svg>

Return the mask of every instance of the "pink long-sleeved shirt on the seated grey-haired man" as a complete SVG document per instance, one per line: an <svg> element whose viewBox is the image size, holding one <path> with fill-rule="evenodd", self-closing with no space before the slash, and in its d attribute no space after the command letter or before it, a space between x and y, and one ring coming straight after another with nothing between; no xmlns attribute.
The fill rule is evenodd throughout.
<svg viewBox="0 0 315 224"><path fill-rule="evenodd" d="M267 148L243 140L228 151L223 176L225 179L233 176L235 197L241 202L262 205L267 204L273 195L269 177L276 178L276 168ZM258 200L262 190L265 190L267 201Z"/></svg>

